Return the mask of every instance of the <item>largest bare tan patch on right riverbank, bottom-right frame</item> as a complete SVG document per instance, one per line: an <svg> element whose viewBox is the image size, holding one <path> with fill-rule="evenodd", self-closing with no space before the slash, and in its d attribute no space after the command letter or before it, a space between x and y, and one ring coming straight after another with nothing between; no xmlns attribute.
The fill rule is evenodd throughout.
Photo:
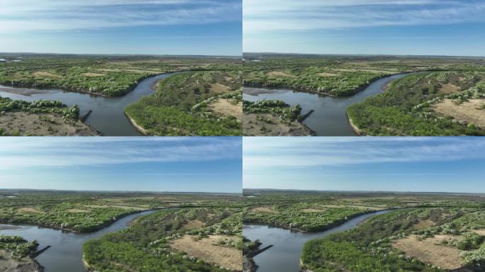
<svg viewBox="0 0 485 272"><path fill-rule="evenodd" d="M398 239L392 242L392 246L396 249L401 249L407 255L414 256L421 261L432 263L434 266L439 266L440 268L452 270L462 266L461 259L459 258L459 249L437 244L442 239L450 237L450 235L436 235L433 238L419 241L416 235L411 235L408 238Z"/></svg>

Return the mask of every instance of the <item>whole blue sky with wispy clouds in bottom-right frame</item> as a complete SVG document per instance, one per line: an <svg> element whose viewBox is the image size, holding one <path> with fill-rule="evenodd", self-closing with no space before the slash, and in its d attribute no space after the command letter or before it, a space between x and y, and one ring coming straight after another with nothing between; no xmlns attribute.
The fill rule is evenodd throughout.
<svg viewBox="0 0 485 272"><path fill-rule="evenodd" d="M243 187L485 193L481 137L244 137Z"/></svg>

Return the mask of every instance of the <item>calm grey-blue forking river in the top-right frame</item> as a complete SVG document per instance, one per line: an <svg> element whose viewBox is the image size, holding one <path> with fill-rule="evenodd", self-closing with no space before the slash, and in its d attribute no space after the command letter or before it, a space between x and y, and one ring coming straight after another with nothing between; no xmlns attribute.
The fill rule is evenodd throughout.
<svg viewBox="0 0 485 272"><path fill-rule="evenodd" d="M319 94L291 91L288 89L256 89L244 88L243 98L247 101L259 101L262 99L278 99L291 106L300 104L301 113L314 110L306 120L303 121L308 128L316 132L318 136L355 136L355 132L350 128L345 114L347 106L364 100L369 96L380 94L384 91L383 86L387 82L404 77L406 74L395 74L374 81L366 89L359 91L353 96L333 97ZM265 90L271 91L271 94L247 94L248 90Z"/></svg>

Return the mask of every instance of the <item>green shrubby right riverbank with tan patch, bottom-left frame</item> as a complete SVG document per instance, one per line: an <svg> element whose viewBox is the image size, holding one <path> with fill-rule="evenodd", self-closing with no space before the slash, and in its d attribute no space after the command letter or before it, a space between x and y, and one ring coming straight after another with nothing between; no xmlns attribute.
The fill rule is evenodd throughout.
<svg viewBox="0 0 485 272"><path fill-rule="evenodd" d="M180 208L84 244L89 271L241 271L239 208Z"/></svg>

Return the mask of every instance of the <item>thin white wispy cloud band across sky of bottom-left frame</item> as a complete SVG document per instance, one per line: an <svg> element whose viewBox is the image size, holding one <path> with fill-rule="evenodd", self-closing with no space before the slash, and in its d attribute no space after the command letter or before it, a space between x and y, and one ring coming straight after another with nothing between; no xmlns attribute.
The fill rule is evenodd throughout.
<svg viewBox="0 0 485 272"><path fill-rule="evenodd" d="M0 169L240 159L240 138L40 137L0 142Z"/></svg>

